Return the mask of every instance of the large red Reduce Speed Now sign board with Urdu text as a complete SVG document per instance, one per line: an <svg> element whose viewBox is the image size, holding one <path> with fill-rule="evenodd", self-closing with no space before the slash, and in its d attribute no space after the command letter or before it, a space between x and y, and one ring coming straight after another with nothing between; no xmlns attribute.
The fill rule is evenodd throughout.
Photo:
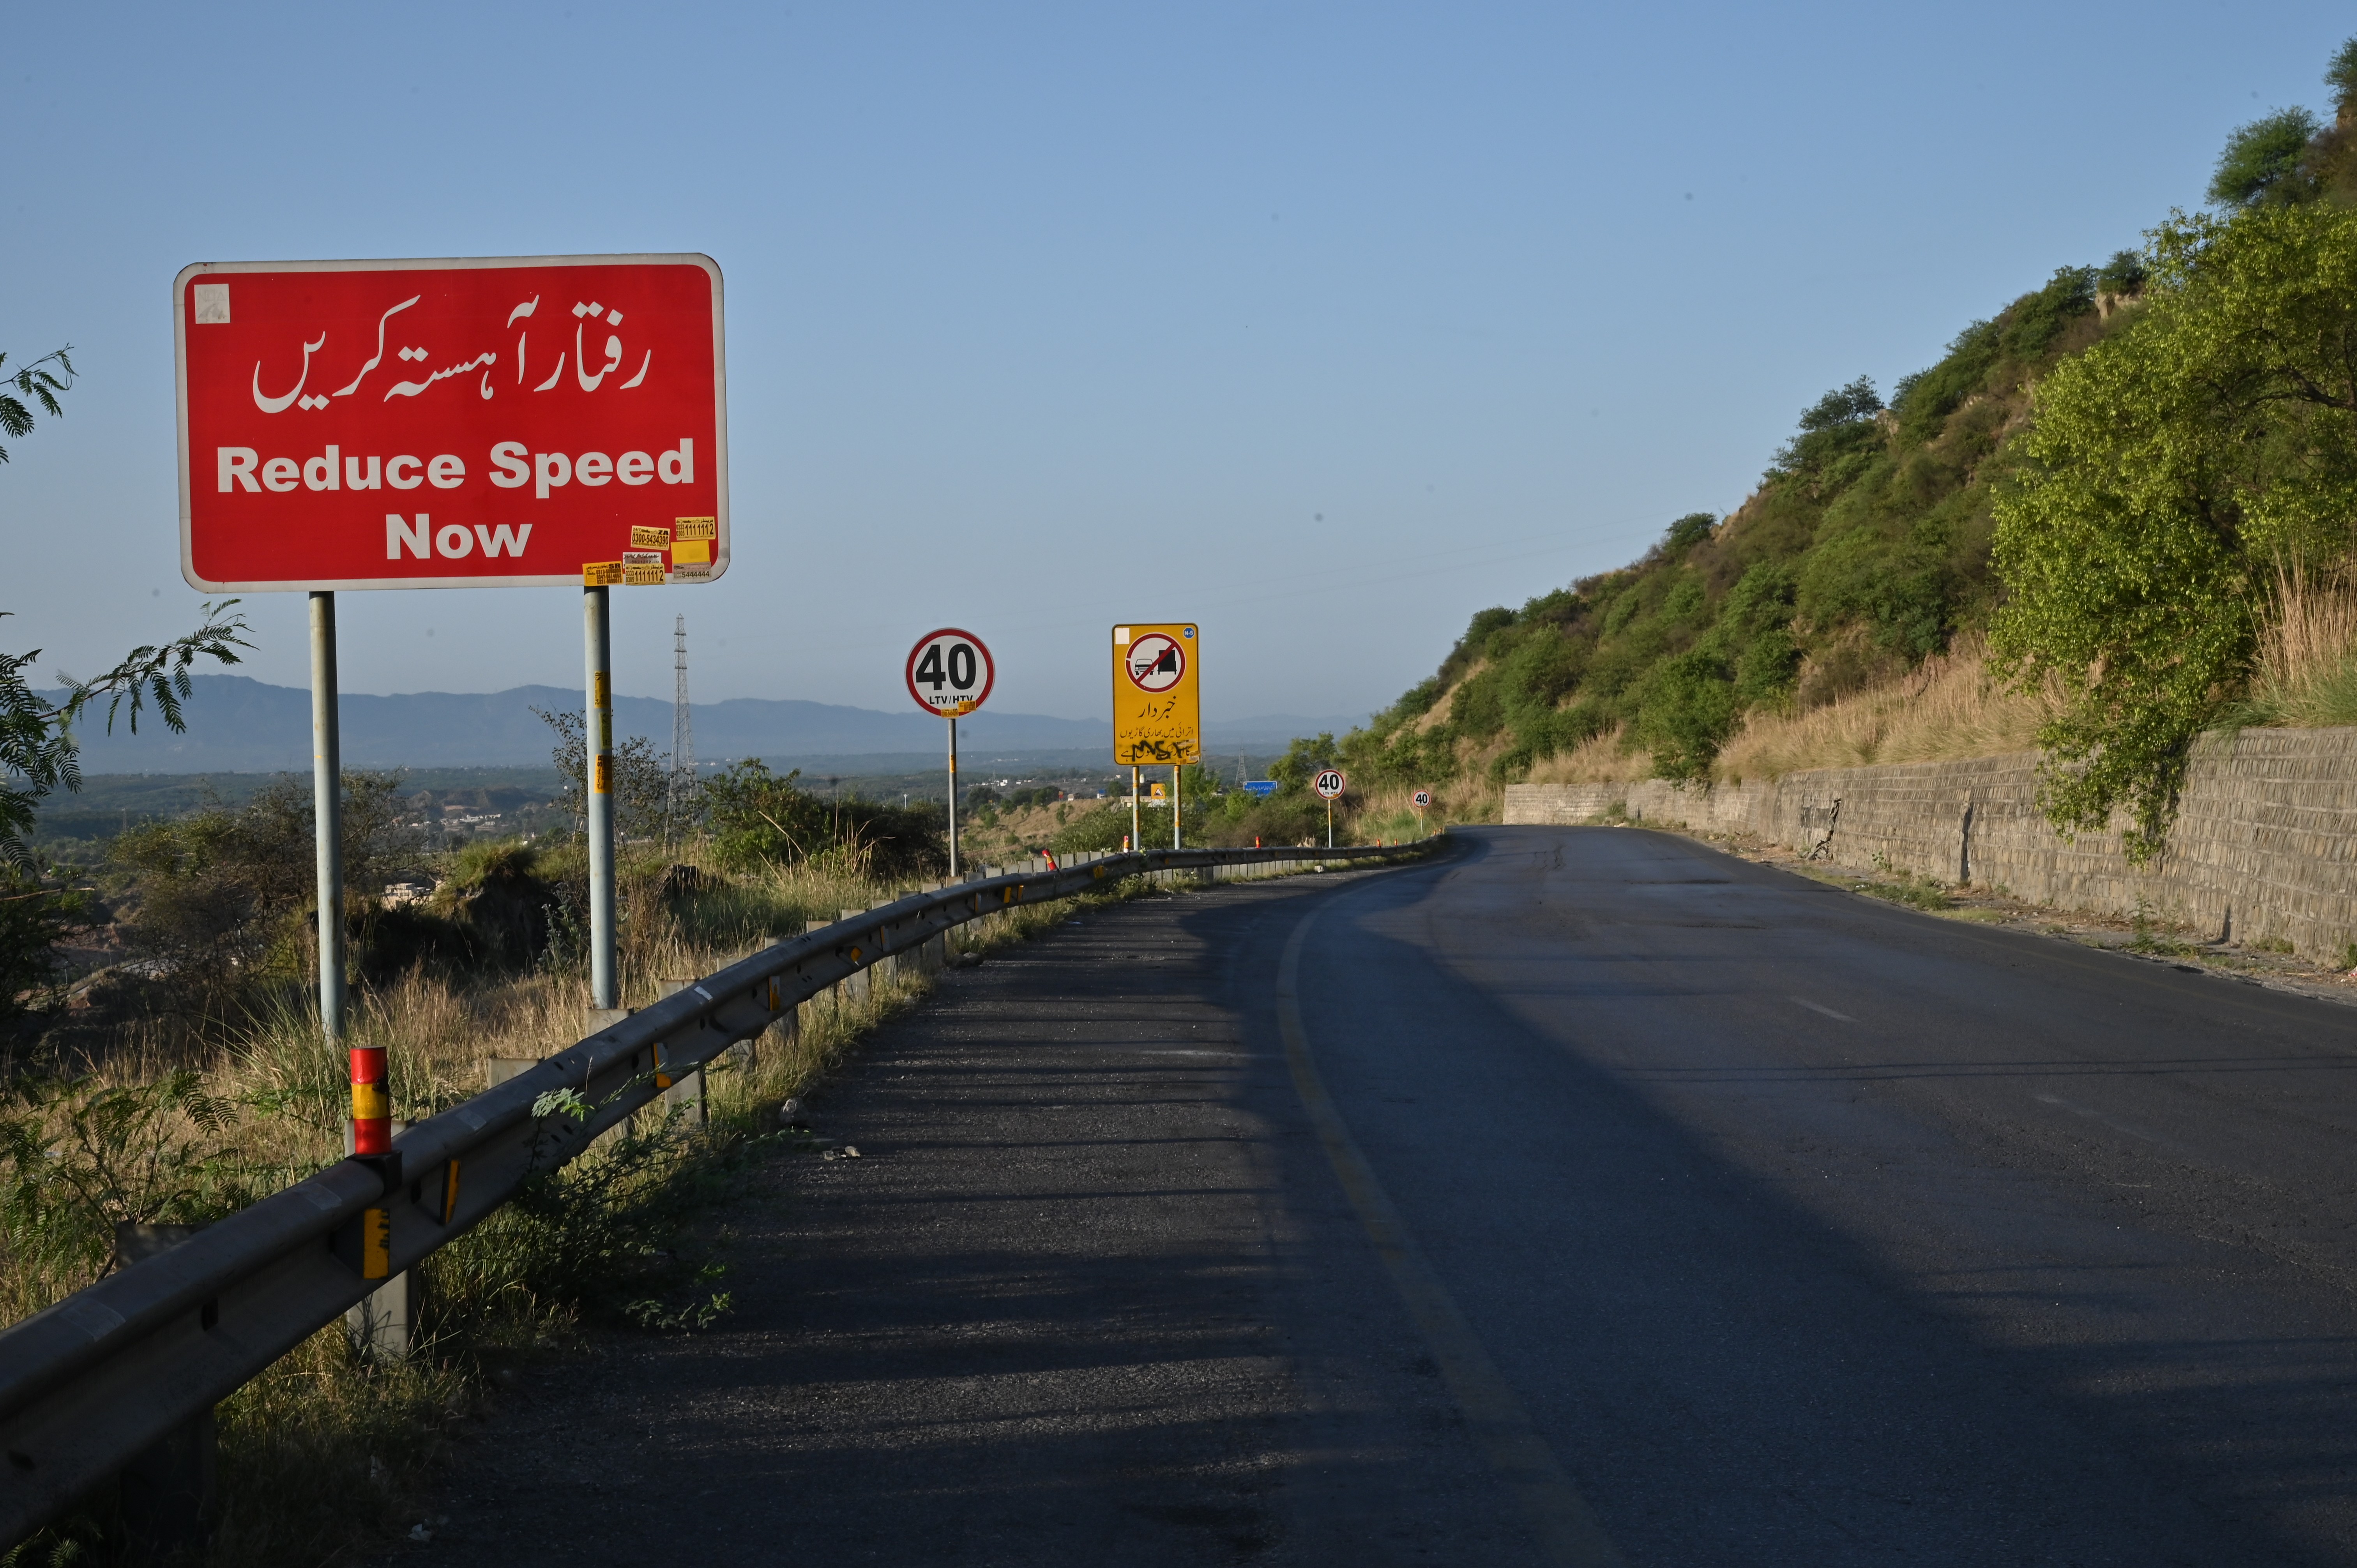
<svg viewBox="0 0 2357 1568"><path fill-rule="evenodd" d="M728 568L712 257L200 262L172 295L198 589Z"/></svg>

